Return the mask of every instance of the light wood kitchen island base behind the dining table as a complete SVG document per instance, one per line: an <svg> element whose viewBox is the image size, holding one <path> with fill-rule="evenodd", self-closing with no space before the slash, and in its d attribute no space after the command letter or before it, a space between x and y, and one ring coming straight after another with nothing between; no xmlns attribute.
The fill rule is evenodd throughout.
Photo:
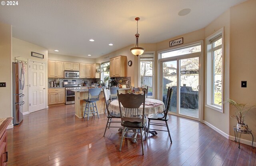
<svg viewBox="0 0 256 166"><path fill-rule="evenodd" d="M120 88L122 92L126 92L129 89L128 88ZM84 102L84 99L88 99L88 88L82 88L82 89L74 89L72 90L75 92L75 115L78 118L83 118L84 116L84 109L86 106L86 102ZM103 114L106 109L105 99L103 90L100 92L100 100L96 102L98 113ZM90 115L92 116L92 115ZM86 115L87 117L87 115Z"/></svg>

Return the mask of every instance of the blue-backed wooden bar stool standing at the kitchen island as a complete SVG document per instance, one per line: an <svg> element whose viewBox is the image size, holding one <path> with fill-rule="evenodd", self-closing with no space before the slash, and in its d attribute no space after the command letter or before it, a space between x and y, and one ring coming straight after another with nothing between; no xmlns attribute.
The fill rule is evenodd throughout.
<svg viewBox="0 0 256 166"><path fill-rule="evenodd" d="M98 108L96 105L96 102L100 100L100 92L101 92L101 88L89 88L88 90L88 99L84 99L84 101L86 102L86 106L84 109L84 116L87 115L87 120L89 120L89 114L95 114L97 113L98 118L99 114L98 114ZM90 105L92 104L92 106ZM88 106L88 107L87 107ZM88 108L88 111L86 113L86 108ZM92 108L92 109L90 109ZM96 108L96 111L94 110L94 108ZM84 118L83 116L83 118Z"/></svg>

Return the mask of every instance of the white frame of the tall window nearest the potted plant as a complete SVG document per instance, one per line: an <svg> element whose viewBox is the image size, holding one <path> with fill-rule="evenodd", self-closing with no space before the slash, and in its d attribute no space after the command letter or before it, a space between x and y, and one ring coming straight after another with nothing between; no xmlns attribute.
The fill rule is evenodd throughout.
<svg viewBox="0 0 256 166"><path fill-rule="evenodd" d="M221 106L218 104L214 104L214 61L212 60L212 52L213 50L216 51L217 49L214 49L212 45L214 42L211 43L211 40L214 38L222 35L222 99L221 102L224 101L224 28L221 28L220 30L217 30L214 34L211 34L206 38L206 91L205 91L205 106L208 108L211 108L213 110L219 111L224 113L223 105ZM220 46L216 46L220 47Z"/></svg>

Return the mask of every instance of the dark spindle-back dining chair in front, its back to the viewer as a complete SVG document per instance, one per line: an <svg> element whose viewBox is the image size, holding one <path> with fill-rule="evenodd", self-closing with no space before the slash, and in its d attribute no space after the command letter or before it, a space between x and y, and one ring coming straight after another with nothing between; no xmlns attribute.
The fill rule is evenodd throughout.
<svg viewBox="0 0 256 166"><path fill-rule="evenodd" d="M145 136L146 140L146 120L144 118L145 93L145 90L144 95L134 93L119 94L118 92L118 103L122 120L121 126L123 126L119 151L122 149L123 138L132 138L133 140L141 140L142 155L144 155L143 136ZM142 104L142 112L139 112ZM134 133L134 136L129 136L128 133ZM140 133L140 138L137 138L138 133Z"/></svg>

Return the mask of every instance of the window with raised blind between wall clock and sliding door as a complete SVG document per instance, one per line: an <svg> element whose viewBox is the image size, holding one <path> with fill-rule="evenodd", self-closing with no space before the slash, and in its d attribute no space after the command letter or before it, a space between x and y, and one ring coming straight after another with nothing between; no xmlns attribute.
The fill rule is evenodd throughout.
<svg viewBox="0 0 256 166"><path fill-rule="evenodd" d="M153 76L154 76L154 54L153 53L145 53L140 55L139 59L139 71L138 74L138 86L147 87L148 86L148 97L154 97L153 90Z"/></svg>

